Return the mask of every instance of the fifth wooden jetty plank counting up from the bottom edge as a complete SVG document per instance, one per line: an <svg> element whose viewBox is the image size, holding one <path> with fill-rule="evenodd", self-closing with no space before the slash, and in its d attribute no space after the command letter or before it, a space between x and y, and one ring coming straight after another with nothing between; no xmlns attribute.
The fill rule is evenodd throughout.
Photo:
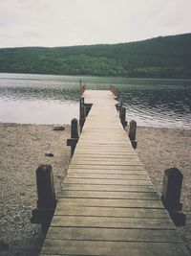
<svg viewBox="0 0 191 256"><path fill-rule="evenodd" d="M160 200L146 199L108 199L108 198L59 198L57 207L88 206L113 208L155 208L164 209Z"/></svg>

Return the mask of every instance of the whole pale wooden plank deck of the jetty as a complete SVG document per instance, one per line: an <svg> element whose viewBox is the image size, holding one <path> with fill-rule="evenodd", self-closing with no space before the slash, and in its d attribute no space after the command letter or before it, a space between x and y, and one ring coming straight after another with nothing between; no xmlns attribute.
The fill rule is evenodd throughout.
<svg viewBox="0 0 191 256"><path fill-rule="evenodd" d="M41 255L189 255L122 128L110 91L93 104Z"/></svg>

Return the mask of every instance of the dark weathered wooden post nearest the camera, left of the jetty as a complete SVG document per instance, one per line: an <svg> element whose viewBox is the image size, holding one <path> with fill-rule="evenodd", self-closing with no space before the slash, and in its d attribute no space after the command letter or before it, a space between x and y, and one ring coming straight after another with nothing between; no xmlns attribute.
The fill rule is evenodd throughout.
<svg viewBox="0 0 191 256"><path fill-rule="evenodd" d="M42 231L47 232L53 219L56 206L53 187L53 168L51 165L40 165L36 169L37 208L32 210L32 223L39 223Z"/></svg>

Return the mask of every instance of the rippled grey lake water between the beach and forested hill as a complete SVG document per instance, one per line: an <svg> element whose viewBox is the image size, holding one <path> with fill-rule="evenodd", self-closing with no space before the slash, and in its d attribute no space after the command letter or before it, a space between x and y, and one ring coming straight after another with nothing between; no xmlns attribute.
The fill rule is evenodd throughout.
<svg viewBox="0 0 191 256"><path fill-rule="evenodd" d="M138 126L191 128L191 81L0 73L0 122L69 124L78 118L79 80L117 87Z"/></svg>

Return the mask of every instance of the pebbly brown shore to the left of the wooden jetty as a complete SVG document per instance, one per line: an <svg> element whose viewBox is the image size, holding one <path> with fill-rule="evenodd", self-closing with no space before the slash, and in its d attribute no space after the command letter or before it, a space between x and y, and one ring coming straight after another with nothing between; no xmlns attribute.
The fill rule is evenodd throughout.
<svg viewBox="0 0 191 256"><path fill-rule="evenodd" d="M0 255L38 255L44 237L32 224L36 207L35 170L40 164L53 166L55 193L67 173L70 129L53 126L0 124ZM53 157L45 153L53 153Z"/></svg>

